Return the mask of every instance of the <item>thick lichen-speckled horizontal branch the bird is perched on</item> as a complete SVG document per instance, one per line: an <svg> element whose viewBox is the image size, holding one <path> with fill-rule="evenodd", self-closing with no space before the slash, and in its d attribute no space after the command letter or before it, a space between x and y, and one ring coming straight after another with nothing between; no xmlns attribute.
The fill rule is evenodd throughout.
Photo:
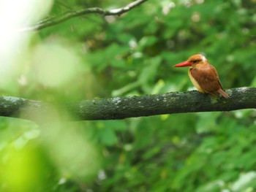
<svg viewBox="0 0 256 192"><path fill-rule="evenodd" d="M198 91L148 96L116 97L70 101L65 107L76 120L117 120L150 115L256 109L256 88L226 90L230 99L213 97ZM31 119L31 114L48 114L53 104L15 97L0 97L0 115ZM29 110L27 108L29 107ZM20 116L20 114L22 114Z"/></svg>

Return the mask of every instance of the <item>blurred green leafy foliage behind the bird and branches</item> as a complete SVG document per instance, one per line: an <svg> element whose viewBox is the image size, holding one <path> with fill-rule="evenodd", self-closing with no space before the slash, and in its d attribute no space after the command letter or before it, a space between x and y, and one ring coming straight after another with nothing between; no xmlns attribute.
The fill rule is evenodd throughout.
<svg viewBox="0 0 256 192"><path fill-rule="evenodd" d="M55 1L49 15L129 2ZM224 88L256 86L254 0L151 0L120 17L84 15L33 34L26 55L45 42L78 55L79 70L55 88L22 71L28 83L8 85L5 95L63 101L187 91L187 69L172 66L196 53ZM39 125L1 118L1 191L256 191L255 110L64 123L72 117L56 109Z"/></svg>

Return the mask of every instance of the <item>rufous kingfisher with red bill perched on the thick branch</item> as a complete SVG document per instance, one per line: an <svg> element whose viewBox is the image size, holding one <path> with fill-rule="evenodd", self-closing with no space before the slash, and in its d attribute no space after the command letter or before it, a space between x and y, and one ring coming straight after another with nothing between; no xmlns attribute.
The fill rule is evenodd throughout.
<svg viewBox="0 0 256 192"><path fill-rule="evenodd" d="M230 98L222 88L217 70L209 64L204 55L192 55L187 61L174 67L184 66L189 66L189 78L200 93L210 93L213 96L221 94L226 99Z"/></svg>

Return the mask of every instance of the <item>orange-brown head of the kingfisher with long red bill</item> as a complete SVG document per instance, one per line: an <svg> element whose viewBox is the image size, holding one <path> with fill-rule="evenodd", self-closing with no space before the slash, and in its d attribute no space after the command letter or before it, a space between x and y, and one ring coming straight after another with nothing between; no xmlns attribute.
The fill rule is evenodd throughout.
<svg viewBox="0 0 256 192"><path fill-rule="evenodd" d="M187 61L184 61L180 64L176 64L174 67L191 66L192 68L194 68L196 65L200 64L208 64L208 61L204 55L197 54L192 55Z"/></svg>

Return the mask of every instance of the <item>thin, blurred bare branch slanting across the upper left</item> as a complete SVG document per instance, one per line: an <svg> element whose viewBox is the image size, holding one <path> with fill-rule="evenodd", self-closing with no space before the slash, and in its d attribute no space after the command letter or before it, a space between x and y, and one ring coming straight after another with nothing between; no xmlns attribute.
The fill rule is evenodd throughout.
<svg viewBox="0 0 256 192"><path fill-rule="evenodd" d="M143 4L148 0L137 0L133 1L130 4L127 4L125 7L121 7L118 9L111 9L111 10L105 10L99 7L91 7L88 9L82 9L80 11L75 10L69 10L68 12L65 12L61 15L56 15L53 18L48 18L46 20L42 20L41 22L34 24L34 26L29 26L25 28L20 28L18 31L37 31L42 28L47 28L50 26L55 26L59 23L62 23L66 20L69 20L71 18L79 17L81 15L91 14L91 13L97 13L99 15L122 15L124 12L128 12L131 9L134 9L135 7L138 7L140 4Z"/></svg>

